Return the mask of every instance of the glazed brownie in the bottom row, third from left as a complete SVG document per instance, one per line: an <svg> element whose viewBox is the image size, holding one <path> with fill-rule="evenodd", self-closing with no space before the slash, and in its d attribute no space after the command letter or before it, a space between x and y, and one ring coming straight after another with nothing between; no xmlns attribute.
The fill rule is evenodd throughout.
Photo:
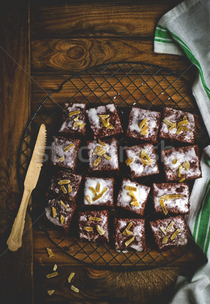
<svg viewBox="0 0 210 304"><path fill-rule="evenodd" d="M142 218L115 218L115 249L145 251L145 220Z"/></svg>

